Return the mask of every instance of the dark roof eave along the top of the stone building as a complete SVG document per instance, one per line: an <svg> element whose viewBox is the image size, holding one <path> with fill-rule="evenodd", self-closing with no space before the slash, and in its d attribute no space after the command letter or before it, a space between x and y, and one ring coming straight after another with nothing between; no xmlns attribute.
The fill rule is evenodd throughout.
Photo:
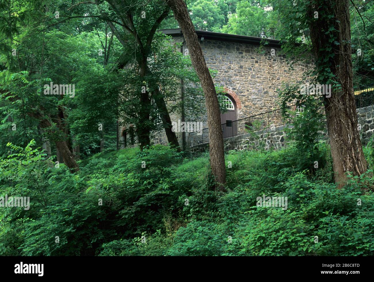
<svg viewBox="0 0 374 282"><path fill-rule="evenodd" d="M173 37L183 36L183 33L180 28L163 29L159 31L164 34L171 35ZM278 48L282 46L282 41L275 40L275 39L266 39L266 38L260 38L260 37L244 36L244 35L236 35L236 34L228 34L228 33L219 33L219 32L213 32L213 31L205 31L205 30L195 30L195 32L199 38L204 37L204 39L210 39L210 40L246 43L246 44L252 44L252 45L260 45L261 41L263 41L263 42L268 42L266 46L278 47ZM299 43L296 43L296 44L299 45Z"/></svg>

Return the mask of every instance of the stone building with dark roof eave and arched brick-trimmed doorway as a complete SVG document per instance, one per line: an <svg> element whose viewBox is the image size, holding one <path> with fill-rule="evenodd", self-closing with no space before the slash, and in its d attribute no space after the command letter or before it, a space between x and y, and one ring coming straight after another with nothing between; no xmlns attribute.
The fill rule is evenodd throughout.
<svg viewBox="0 0 374 282"><path fill-rule="evenodd" d="M161 32L172 36L174 42L182 43L181 51L186 50L180 28ZM221 114L222 124L230 125L231 121L278 109L282 84L304 83L304 73L310 67L297 61L291 67L279 40L201 30L196 30L196 34L209 69L217 71L213 79L215 85L223 87L228 110ZM183 121L177 115L172 115L171 119L172 122ZM196 122L203 122L207 127L206 116ZM226 125L223 126L224 137ZM154 143L167 143L165 132L154 133L153 137ZM188 132L177 132L177 137L181 146L188 144Z"/></svg>

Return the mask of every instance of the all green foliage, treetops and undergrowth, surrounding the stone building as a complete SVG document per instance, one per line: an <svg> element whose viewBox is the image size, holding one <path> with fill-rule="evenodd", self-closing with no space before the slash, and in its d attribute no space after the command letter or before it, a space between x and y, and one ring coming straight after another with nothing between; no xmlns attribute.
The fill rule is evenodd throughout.
<svg viewBox="0 0 374 282"><path fill-rule="evenodd" d="M312 1L324 8L318 21L327 22L321 32L329 40L318 50L316 69L307 75L313 77L311 82L338 88L331 72L338 33L331 14L334 1L329 2ZM183 105L191 109L185 118L194 119L204 110L190 58L176 52L180 45L156 33L151 44L141 48L165 1L125 0L119 5L126 9L117 10L105 1L73 8L58 0L46 10L40 9L43 4L0 0L0 196L31 201L30 209L1 207L0 255L374 254L373 138L365 148L368 172L349 176L347 185L336 189L329 147L320 142L321 104L291 86L282 91L284 111L295 100L305 106L303 112L291 113L293 142L279 151L228 152L226 162L232 167L227 169L227 193L213 189L208 152L186 158L161 145L114 152L117 120L135 129L161 128L151 103L157 89L160 97L172 101L170 113ZM373 18L373 3L356 4L365 19ZM318 24L309 14L308 1L199 0L187 1L187 6L197 29L282 39L283 51L293 55L311 50L309 27ZM74 18L96 15L97 8L117 22L129 12L136 32L130 34L115 23L120 43L106 20ZM54 19L55 10L73 18ZM147 20L141 18L142 11ZM354 7L350 15L352 48L364 54L352 55L361 76L355 85L368 85L373 78L368 43L373 25L362 32ZM160 27L177 24L171 16ZM11 54L13 48L17 56ZM103 56L98 55L101 48ZM140 77L142 59L148 63ZM183 101L175 83L181 79ZM43 95L43 85L51 81L75 84L75 98ZM148 92L142 100L144 85ZM44 120L51 126L40 133ZM260 122L247 128L255 139ZM10 130L13 123L16 131ZM103 132L98 132L98 123L104 124ZM62 139L80 144L80 171L73 175L64 164L56 167L38 148L45 138L52 144ZM94 154L101 139L106 151ZM257 206L257 197L264 194L287 197L288 208Z"/></svg>

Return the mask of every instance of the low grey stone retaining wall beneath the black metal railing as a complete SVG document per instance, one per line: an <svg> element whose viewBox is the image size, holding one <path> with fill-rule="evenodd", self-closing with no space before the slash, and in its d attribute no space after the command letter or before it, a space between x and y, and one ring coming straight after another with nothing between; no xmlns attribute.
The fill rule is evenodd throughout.
<svg viewBox="0 0 374 282"><path fill-rule="evenodd" d="M374 131L374 106L368 106L356 110L358 123L361 126L360 135L363 145L366 145ZM286 133L285 128L292 125L282 125L275 128L266 128L264 130L255 131L254 133L246 133L224 139L224 150L251 150L264 148L280 149L285 147ZM327 129L322 132L322 136L326 136ZM257 136L257 137L255 137ZM324 137L326 138L326 137ZM208 143L191 146L192 153L203 152L208 149Z"/></svg>

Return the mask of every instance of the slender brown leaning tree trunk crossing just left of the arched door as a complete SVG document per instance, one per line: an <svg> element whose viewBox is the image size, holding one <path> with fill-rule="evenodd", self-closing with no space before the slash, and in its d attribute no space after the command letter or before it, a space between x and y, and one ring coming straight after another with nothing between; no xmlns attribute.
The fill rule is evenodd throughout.
<svg viewBox="0 0 374 282"><path fill-rule="evenodd" d="M206 110L208 114L209 155L212 174L218 183L224 184L226 182L226 168L223 135L220 107L214 83L209 73L208 66L206 66L195 28L190 15L188 14L186 3L184 0L166 0L166 3L171 6L175 19L181 27L184 39L186 40L189 49L192 65L199 76L201 86L204 90ZM224 190L223 185L220 185L219 189Z"/></svg>

